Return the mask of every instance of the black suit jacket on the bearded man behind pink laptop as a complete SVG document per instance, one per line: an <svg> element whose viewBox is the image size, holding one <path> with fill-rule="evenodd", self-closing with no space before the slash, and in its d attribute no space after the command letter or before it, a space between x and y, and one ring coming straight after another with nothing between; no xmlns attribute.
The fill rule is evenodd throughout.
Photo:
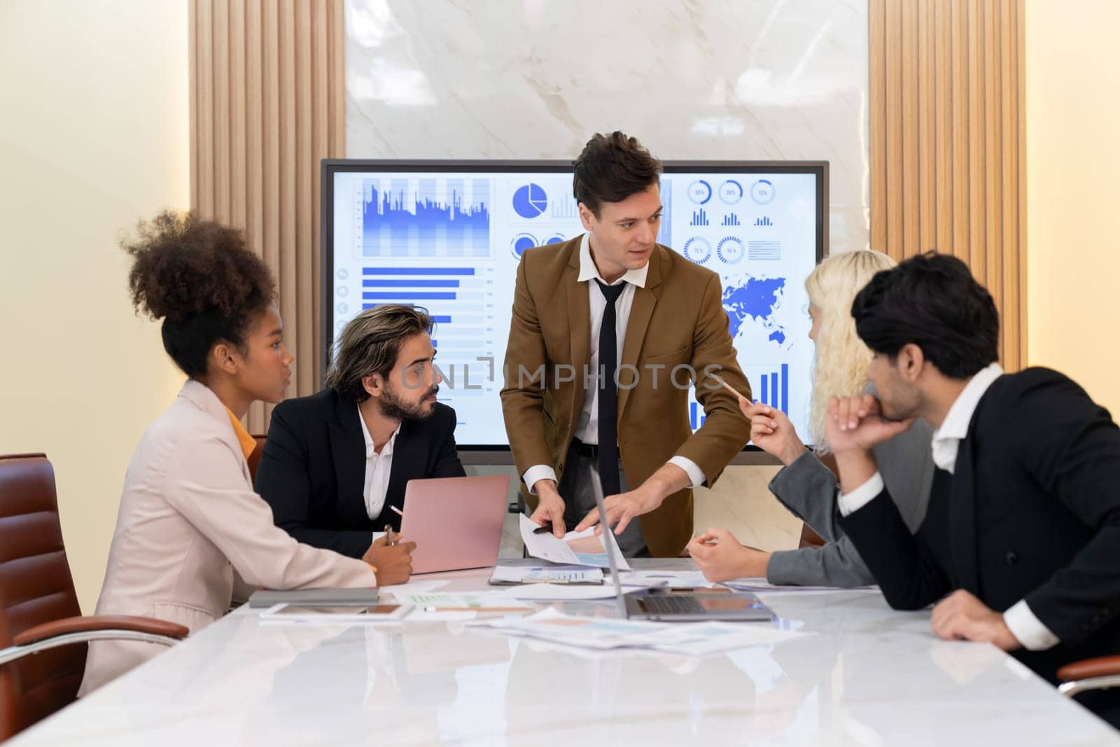
<svg viewBox="0 0 1120 747"><path fill-rule="evenodd" d="M393 442L385 505L370 519L365 487L365 440L357 404L327 389L284 400L272 411L269 438L256 468L256 492L272 506L272 520L300 542L361 558L371 532L401 517L404 486L418 477L463 477L455 448L455 410L436 403L427 420L404 420Z"/></svg>

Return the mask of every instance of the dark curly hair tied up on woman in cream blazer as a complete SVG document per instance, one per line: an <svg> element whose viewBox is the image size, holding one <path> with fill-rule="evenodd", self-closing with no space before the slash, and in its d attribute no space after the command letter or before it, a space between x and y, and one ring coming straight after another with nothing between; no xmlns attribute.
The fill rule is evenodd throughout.
<svg viewBox="0 0 1120 747"><path fill-rule="evenodd" d="M164 349L185 374L205 377L220 342L248 352L246 335L276 298L276 281L240 231L165 211L140 221L121 249L132 256L132 306L164 320Z"/></svg>

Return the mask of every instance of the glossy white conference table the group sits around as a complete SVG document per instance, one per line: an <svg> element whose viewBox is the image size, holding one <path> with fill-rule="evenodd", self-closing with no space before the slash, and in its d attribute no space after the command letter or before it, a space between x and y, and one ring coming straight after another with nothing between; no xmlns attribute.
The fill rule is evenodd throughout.
<svg viewBox="0 0 1120 747"><path fill-rule="evenodd" d="M488 576L420 578L468 591ZM461 620L261 625L242 607L9 744L1120 745L996 647L939 641L927 610L866 590L760 596L777 625L816 635L688 659ZM566 604L614 614L610 600Z"/></svg>

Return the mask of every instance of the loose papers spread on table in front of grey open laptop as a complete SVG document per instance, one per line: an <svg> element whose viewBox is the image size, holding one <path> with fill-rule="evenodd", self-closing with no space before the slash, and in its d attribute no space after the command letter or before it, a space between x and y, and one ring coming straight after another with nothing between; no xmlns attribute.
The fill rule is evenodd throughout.
<svg viewBox="0 0 1120 747"><path fill-rule="evenodd" d="M759 623L694 623L691 625L644 620L577 617L554 609L515 619L468 623L472 627L505 635L535 638L598 651L638 648L683 656L734 651L802 636Z"/></svg>

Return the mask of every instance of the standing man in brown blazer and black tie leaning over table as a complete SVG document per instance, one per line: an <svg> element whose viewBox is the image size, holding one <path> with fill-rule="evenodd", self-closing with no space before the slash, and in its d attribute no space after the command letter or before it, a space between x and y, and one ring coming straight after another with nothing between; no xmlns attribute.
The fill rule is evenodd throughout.
<svg viewBox="0 0 1120 747"><path fill-rule="evenodd" d="M750 395L719 277L655 243L660 172L622 132L588 141L573 179L587 233L522 255L502 390L532 520L557 536L592 525L597 473L627 557L679 554L691 488L711 486L749 437L719 385ZM696 433L690 380L707 414Z"/></svg>

